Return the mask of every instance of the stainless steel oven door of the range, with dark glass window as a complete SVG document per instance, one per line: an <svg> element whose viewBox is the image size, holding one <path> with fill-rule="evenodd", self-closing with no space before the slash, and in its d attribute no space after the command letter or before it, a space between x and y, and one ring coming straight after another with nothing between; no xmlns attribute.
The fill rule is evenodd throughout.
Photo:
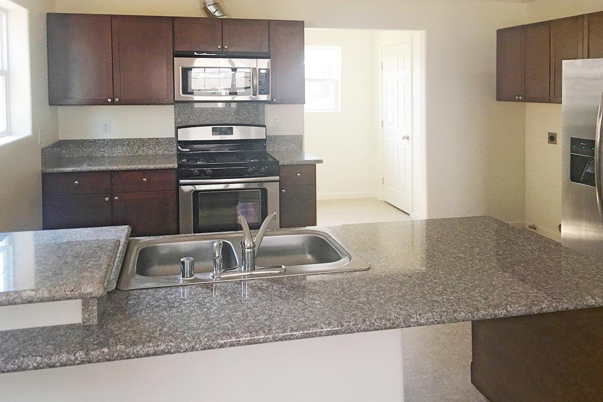
<svg viewBox="0 0 603 402"><path fill-rule="evenodd" d="M241 230L239 215L251 230L279 211L279 177L180 180L180 233ZM279 228L279 218L270 228Z"/></svg>

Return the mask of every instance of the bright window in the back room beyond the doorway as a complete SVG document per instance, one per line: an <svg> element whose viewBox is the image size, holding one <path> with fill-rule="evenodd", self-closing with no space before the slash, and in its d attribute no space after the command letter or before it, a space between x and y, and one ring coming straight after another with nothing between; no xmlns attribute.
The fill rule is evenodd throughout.
<svg viewBox="0 0 603 402"><path fill-rule="evenodd" d="M341 48L306 46L305 111L339 111Z"/></svg>

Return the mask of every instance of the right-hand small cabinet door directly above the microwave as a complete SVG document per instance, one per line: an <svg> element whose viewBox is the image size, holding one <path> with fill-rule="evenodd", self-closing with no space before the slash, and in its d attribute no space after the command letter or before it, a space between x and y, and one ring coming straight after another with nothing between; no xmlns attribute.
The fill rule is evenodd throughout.
<svg viewBox="0 0 603 402"><path fill-rule="evenodd" d="M268 20L226 18L222 42L226 52L265 52L268 49Z"/></svg>

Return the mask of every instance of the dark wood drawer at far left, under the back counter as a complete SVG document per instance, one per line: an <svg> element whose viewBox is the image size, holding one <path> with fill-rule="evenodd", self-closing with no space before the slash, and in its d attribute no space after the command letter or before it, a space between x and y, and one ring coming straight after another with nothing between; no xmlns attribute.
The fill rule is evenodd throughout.
<svg viewBox="0 0 603 402"><path fill-rule="evenodd" d="M44 195L81 195L111 192L109 172L45 173Z"/></svg>

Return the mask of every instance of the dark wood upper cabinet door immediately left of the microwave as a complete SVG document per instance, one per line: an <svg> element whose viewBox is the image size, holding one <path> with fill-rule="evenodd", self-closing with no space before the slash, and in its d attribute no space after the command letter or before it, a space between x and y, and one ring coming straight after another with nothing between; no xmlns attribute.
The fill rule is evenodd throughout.
<svg viewBox="0 0 603 402"><path fill-rule="evenodd" d="M116 104L174 103L171 17L113 16Z"/></svg>

